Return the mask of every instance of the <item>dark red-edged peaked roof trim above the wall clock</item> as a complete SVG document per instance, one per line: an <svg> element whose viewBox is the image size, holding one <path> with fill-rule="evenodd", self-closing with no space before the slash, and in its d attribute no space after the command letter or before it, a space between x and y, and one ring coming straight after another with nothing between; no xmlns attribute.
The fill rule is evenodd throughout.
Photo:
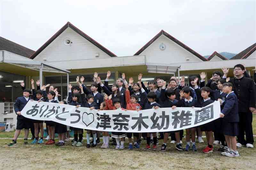
<svg viewBox="0 0 256 170"><path fill-rule="evenodd" d="M176 38L174 38L172 35L166 33L164 30L161 30L158 34L156 34L155 37L153 37L150 41L148 41L147 44L145 44L142 48L140 48L139 51L137 51L134 55L140 55L140 53L142 53L142 51L144 51L146 48L148 48L148 46L150 46L154 41L156 41L156 39L158 39L161 35L165 35L167 38L169 38L170 40L174 41L175 43L177 43L178 45L180 45L181 47L185 48L186 50L188 50L190 53L192 53L193 55L196 55L198 58L200 58L203 61L208 61L204 56L198 54L196 51L194 51L193 49L189 48L188 46L186 46L185 44L183 44L182 42L180 42L179 40L177 40Z"/></svg>

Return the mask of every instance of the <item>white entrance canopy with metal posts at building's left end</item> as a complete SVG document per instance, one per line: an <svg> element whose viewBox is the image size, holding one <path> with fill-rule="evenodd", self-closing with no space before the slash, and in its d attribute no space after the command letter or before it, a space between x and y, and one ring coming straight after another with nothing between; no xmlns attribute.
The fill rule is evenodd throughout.
<svg viewBox="0 0 256 170"><path fill-rule="evenodd" d="M42 83L43 83L43 72L65 73L67 74L67 76L70 73L70 71L68 70L64 70L59 67L52 66L48 63L31 60L27 57L23 57L8 51L0 51L0 63L8 63L8 64L16 65L19 67L24 67L27 69L39 71L40 86L42 86Z"/></svg>

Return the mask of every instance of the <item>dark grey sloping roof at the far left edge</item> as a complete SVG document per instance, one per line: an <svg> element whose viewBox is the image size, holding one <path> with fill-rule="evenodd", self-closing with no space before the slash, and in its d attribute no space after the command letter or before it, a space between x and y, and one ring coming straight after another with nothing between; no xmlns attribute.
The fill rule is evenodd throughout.
<svg viewBox="0 0 256 170"><path fill-rule="evenodd" d="M20 44L17 44L15 42L12 42L10 40L7 40L3 37L0 37L0 50L6 50L11 53L21 55L23 57L30 57L32 54L35 53L35 51L26 48Z"/></svg>

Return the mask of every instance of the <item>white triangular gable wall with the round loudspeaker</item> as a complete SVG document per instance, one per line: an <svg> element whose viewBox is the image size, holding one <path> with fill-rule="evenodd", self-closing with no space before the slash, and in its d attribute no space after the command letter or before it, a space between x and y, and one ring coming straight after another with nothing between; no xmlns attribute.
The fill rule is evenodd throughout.
<svg viewBox="0 0 256 170"><path fill-rule="evenodd" d="M68 37L72 44L71 46L64 45L63 40ZM99 53L99 57L110 57L100 48L96 47L90 41L76 33L71 28L67 28L61 33L51 44L49 44L34 60L43 61L44 58L50 62L63 60L77 59L93 59L95 54Z"/></svg>

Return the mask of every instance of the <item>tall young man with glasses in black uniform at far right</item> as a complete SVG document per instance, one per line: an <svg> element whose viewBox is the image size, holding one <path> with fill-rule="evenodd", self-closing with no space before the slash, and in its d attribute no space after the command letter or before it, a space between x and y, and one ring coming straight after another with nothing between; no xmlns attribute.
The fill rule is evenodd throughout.
<svg viewBox="0 0 256 170"><path fill-rule="evenodd" d="M227 68L223 68L224 76L228 75ZM230 82L234 86L234 92L238 99L238 113L239 113L239 135L237 147L246 145L247 148L253 148L253 134L252 134L252 112L255 110L255 83L251 78L244 76L245 68L242 64L234 66L235 78L231 78ZM246 140L244 140L244 131Z"/></svg>

